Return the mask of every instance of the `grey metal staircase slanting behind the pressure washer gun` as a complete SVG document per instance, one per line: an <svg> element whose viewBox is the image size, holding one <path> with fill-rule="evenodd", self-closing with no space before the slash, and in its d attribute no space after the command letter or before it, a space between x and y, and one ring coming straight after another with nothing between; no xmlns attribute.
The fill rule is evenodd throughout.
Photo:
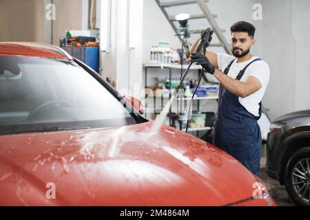
<svg viewBox="0 0 310 220"><path fill-rule="evenodd" d="M169 16L166 8L179 6L179 5L198 4L200 10L203 13L190 15L189 19L204 19L204 18L207 19L207 21L211 25L211 29L214 31L219 41L218 43L211 43L209 46L210 47L223 47L223 49L225 50L227 54L231 54L231 50L229 50L230 48L229 43L226 41L225 36L223 34L225 30L220 29L220 27L218 26L218 23L216 22L216 18L218 16L216 14L211 14L206 4L206 2L208 2L209 0L174 0L174 1L155 0L155 1L158 4L159 8L161 8L161 11L165 15L167 21L169 22L169 24L172 26L172 29L176 33L178 33L178 28L176 27L176 25L174 25L174 21L176 21L176 19L174 17ZM190 33L200 34L202 31L203 30L192 30L190 31Z"/></svg>

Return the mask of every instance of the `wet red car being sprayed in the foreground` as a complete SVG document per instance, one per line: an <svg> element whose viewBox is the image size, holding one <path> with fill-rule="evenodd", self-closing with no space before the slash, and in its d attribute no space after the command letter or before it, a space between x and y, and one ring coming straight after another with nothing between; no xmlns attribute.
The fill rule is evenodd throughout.
<svg viewBox="0 0 310 220"><path fill-rule="evenodd" d="M0 205L275 205L215 146L169 126L149 136L133 100L59 47L0 43Z"/></svg>

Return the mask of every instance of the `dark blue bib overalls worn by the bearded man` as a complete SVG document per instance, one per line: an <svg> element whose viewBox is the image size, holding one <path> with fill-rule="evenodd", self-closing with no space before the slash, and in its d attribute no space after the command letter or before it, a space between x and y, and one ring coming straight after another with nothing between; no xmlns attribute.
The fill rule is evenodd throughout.
<svg viewBox="0 0 310 220"><path fill-rule="evenodd" d="M240 80L245 74L245 69L255 61L260 61L260 58L246 65L239 72L236 80ZM229 63L224 74L228 74L232 63L234 61ZM259 175L262 135L257 120L262 115L261 102L259 116L255 116L240 104L238 98L220 85L213 144L238 159L252 173Z"/></svg>

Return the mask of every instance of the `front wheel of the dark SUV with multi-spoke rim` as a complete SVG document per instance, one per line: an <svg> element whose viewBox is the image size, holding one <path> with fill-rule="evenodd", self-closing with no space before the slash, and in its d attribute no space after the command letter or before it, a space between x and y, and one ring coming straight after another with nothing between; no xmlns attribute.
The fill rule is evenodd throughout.
<svg viewBox="0 0 310 220"><path fill-rule="evenodd" d="M285 186L293 203L310 206L310 148L301 148L289 159Z"/></svg>

